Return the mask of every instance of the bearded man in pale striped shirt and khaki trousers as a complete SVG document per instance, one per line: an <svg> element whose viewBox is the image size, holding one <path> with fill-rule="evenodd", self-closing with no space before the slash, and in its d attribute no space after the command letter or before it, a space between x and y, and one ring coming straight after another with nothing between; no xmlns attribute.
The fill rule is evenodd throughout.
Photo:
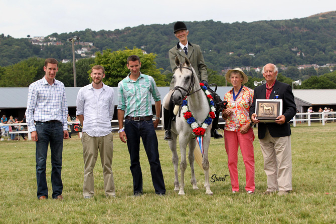
<svg viewBox="0 0 336 224"><path fill-rule="evenodd" d="M107 197L115 197L112 172L113 134L111 120L114 112L114 91L103 83L105 69L95 65L91 69L92 83L82 87L77 95L76 116L83 125L84 198L94 195L93 168L100 153L104 189Z"/></svg>

